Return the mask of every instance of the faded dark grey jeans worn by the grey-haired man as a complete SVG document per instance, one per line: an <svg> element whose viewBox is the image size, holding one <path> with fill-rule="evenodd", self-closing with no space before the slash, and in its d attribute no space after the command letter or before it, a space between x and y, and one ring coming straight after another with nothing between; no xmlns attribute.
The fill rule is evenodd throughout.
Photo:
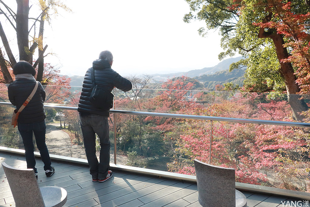
<svg viewBox="0 0 310 207"><path fill-rule="evenodd" d="M89 172L93 179L104 179L110 168L110 137L108 117L90 114L80 115L83 142L89 164ZM100 155L96 156L96 136L99 137Z"/></svg>

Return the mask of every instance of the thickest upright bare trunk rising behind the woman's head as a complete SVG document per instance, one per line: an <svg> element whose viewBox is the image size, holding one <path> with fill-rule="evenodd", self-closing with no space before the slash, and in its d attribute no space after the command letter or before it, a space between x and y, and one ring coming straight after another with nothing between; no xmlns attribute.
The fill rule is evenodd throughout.
<svg viewBox="0 0 310 207"><path fill-rule="evenodd" d="M32 65L32 54L30 55L29 52L28 38L29 0L16 0L16 3L16 34L20 61L28 61Z"/></svg>

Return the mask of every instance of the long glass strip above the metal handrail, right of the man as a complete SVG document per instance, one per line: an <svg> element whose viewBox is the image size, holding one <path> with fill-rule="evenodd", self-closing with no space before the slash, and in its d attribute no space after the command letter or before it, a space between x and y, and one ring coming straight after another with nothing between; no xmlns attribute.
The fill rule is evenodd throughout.
<svg viewBox="0 0 310 207"><path fill-rule="evenodd" d="M120 95L121 94L121 95ZM132 89L115 92L118 110L206 115L244 119L301 121L300 109L310 106L309 95L214 92L164 89ZM308 105L308 106L307 106ZM292 110L293 109L293 110Z"/></svg>

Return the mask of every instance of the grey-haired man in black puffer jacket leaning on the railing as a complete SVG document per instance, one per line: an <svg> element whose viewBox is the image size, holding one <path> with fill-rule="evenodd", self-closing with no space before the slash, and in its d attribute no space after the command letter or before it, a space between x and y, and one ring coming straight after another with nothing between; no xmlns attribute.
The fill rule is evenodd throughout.
<svg viewBox="0 0 310 207"><path fill-rule="evenodd" d="M131 90L132 84L129 80L120 76L111 69L113 63L113 55L110 51L102 51L99 59L93 61L93 66L86 71L82 93L78 104L78 112L80 114L81 128L83 133L83 141L89 171L92 181L104 182L112 177L110 168L110 138L108 117L112 101L103 103L102 106L95 106L91 101L91 92L93 89L91 71L94 70L95 85L110 93L114 87L126 92ZM98 162L96 156L96 137L98 135L100 141L100 155Z"/></svg>

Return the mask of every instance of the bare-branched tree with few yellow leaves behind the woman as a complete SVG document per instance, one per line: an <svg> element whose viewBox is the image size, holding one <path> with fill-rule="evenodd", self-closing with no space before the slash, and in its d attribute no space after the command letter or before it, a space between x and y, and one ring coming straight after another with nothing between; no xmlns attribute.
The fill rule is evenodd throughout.
<svg viewBox="0 0 310 207"><path fill-rule="evenodd" d="M17 37L17 47L19 51L19 60L28 61L29 63L33 63L33 53L36 47L39 48L39 57L38 62L38 75L37 80L42 81L43 70L44 70L44 55L43 52L43 32L44 32L44 21L48 20L50 23L50 15L57 14L57 8L62 8L65 11L71 11L66 5L64 5L60 0L35 0L32 1L39 5L40 14L33 18L29 17L30 8L34 8L35 4L29 7L29 0L16 0L16 13L12 7L9 7L4 1L0 0L0 13L3 14L7 22L12 26L12 28L16 32ZM7 1L12 5L12 2ZM34 7L33 7L34 6ZM51 12L50 11L51 8ZM36 33L36 23L39 22L39 32ZM29 28L29 23L32 25ZM2 74L5 77L5 82L10 83L12 81L12 77L9 77L9 73L7 73L7 69L5 69L4 62L8 62L8 64L13 67L16 63L15 57L12 54L10 45L7 40L7 36L3 30L2 24L0 23L0 37L2 39L2 43L4 45L7 56L9 57L9 62L4 59L3 56L0 56ZM32 39L29 41L29 37ZM31 45L31 46L30 46ZM45 47L46 48L46 47ZM41 54L42 53L42 54ZM7 78L6 78L7 77Z"/></svg>

